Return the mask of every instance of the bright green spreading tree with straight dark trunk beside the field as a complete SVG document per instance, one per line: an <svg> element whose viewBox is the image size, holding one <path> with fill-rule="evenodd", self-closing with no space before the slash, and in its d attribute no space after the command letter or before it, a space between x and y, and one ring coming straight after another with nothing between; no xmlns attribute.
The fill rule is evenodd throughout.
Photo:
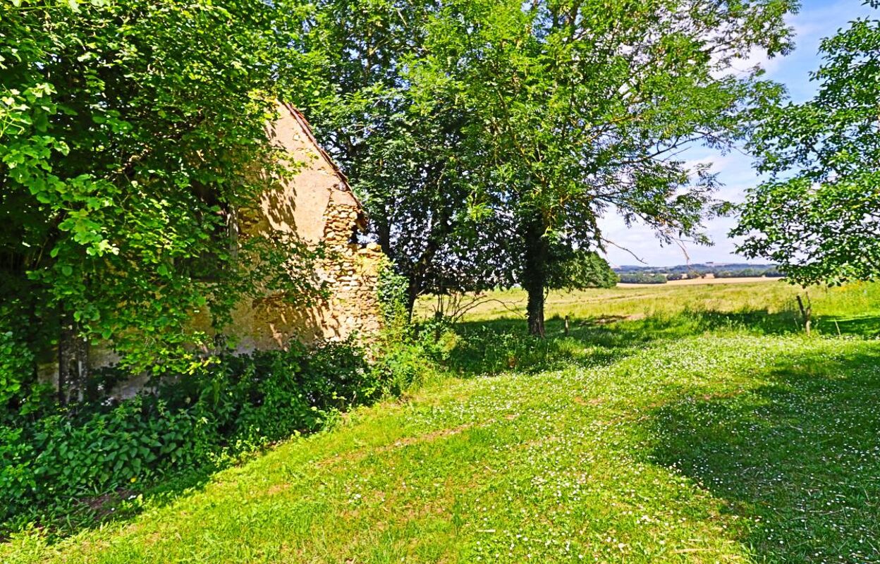
<svg viewBox="0 0 880 564"><path fill-rule="evenodd" d="M470 248L528 293L544 334L554 248L602 249L598 218L620 213L666 243L708 243L701 223L725 206L715 178L676 155L743 135L744 110L774 99L752 49L788 51L788 0L570 2L458 0L430 22L417 83L444 84L467 116Z"/></svg>

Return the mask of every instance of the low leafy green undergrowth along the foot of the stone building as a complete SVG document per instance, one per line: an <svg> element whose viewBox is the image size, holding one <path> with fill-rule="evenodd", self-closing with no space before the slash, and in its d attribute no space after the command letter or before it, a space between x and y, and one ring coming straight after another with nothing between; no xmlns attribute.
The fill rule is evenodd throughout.
<svg viewBox="0 0 880 564"><path fill-rule="evenodd" d="M392 379L397 370L394 363L370 367L348 343L311 351L292 346L219 357L194 375L166 378L151 393L121 402L6 414L0 531L64 514L72 500L139 487L169 472L218 467L322 428L339 411L377 399L388 389L381 378Z"/></svg>

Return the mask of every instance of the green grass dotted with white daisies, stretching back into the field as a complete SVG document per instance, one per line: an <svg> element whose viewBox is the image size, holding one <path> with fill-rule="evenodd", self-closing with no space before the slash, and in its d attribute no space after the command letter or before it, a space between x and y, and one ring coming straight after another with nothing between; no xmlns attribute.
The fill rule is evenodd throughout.
<svg viewBox="0 0 880 564"><path fill-rule="evenodd" d="M814 290L811 338L793 292L554 295L547 341L498 293L457 376L0 561L880 562L880 285Z"/></svg>

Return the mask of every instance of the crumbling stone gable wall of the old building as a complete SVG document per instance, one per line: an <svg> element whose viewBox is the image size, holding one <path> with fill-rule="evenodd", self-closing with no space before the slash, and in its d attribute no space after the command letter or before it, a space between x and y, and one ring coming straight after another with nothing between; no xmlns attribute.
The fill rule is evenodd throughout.
<svg viewBox="0 0 880 564"><path fill-rule="evenodd" d="M290 339L311 343L375 335L381 328L376 284L385 255L376 244L356 242L356 232L366 226L361 203L304 115L286 104L278 114L268 136L290 154L296 173L262 195L259 211L244 218L241 229L282 231L324 245L326 260L316 274L328 298L312 307L271 296L240 304L227 333L243 350L283 347Z"/></svg>

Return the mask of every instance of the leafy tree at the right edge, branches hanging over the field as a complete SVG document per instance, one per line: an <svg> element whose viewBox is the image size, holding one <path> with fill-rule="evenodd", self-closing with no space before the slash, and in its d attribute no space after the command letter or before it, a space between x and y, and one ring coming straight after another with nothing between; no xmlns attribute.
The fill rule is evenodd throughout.
<svg viewBox="0 0 880 564"><path fill-rule="evenodd" d="M731 231L737 252L804 288L880 277L880 20L857 19L820 50L816 96L759 114L751 149L769 179Z"/></svg>

